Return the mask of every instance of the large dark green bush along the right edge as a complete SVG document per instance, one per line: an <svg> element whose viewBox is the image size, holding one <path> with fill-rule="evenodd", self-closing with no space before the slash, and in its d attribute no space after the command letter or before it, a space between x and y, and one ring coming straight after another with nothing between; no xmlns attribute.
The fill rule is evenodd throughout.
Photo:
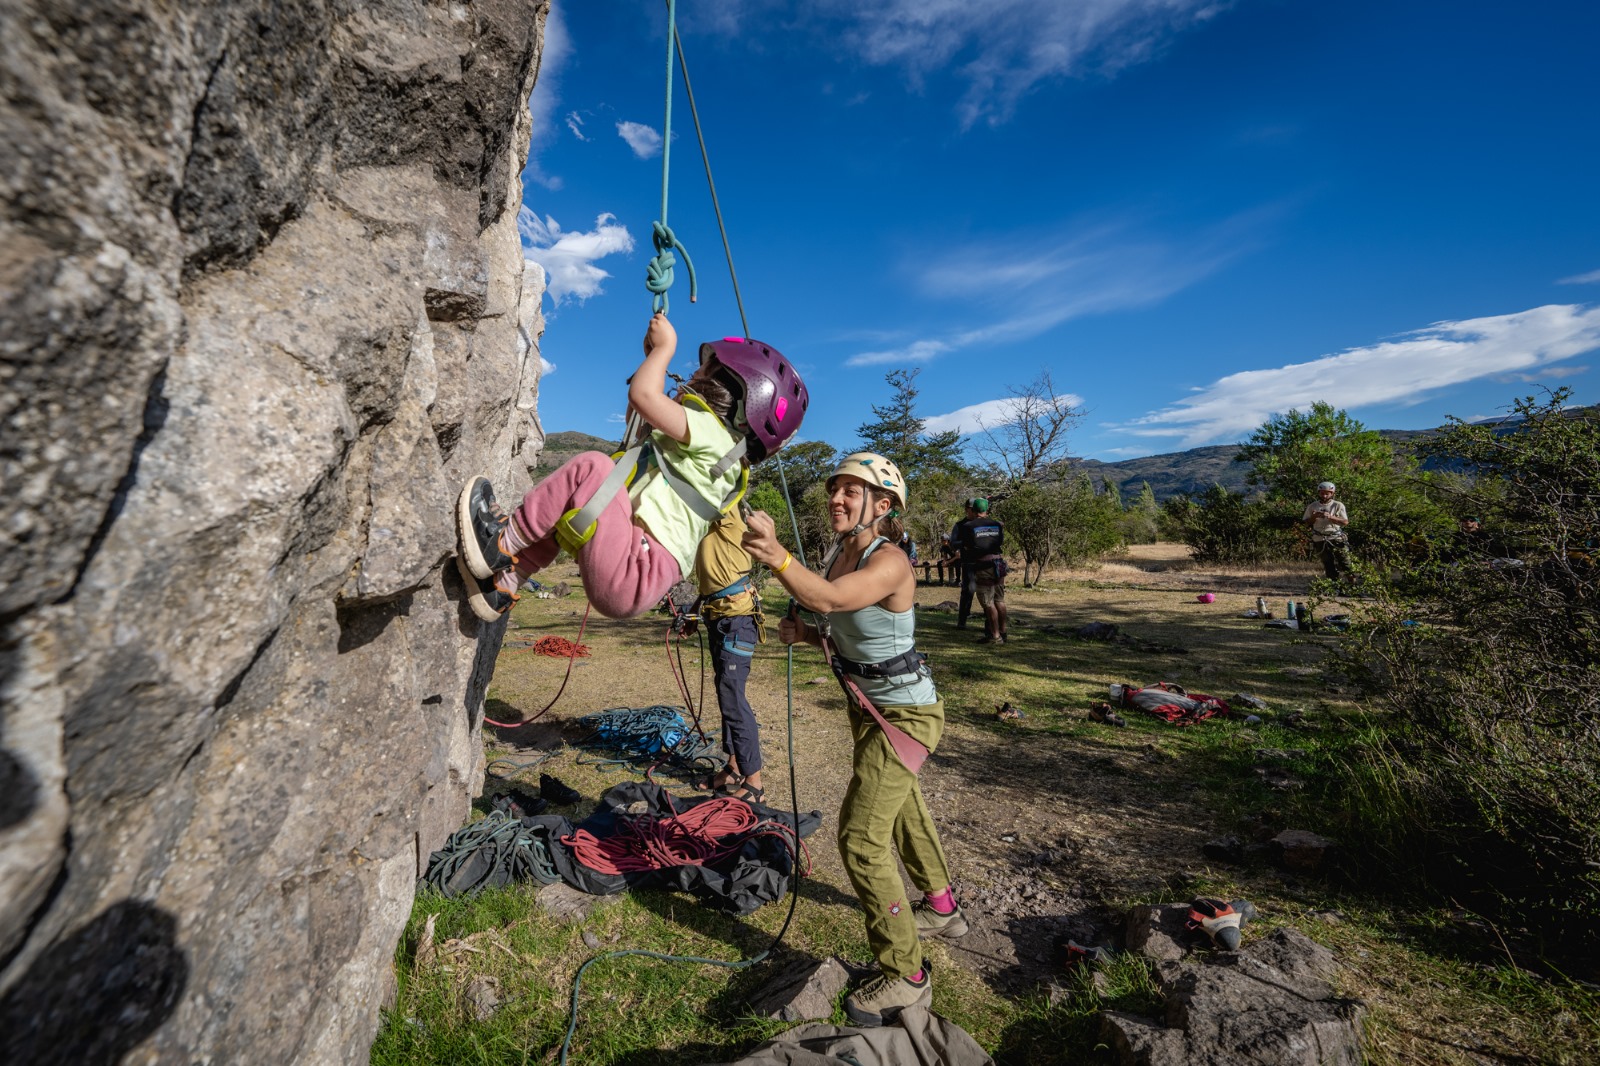
<svg viewBox="0 0 1600 1066"><path fill-rule="evenodd" d="M1363 779L1427 880L1573 951L1600 951L1600 419L1565 391L1512 426L1453 421L1426 450L1490 536L1434 538L1376 587L1344 658L1395 711ZM1515 559L1507 559L1507 554ZM1357 776L1357 775L1352 775ZM1430 858L1432 856L1432 858ZM1466 861L1469 860L1470 861Z"/></svg>

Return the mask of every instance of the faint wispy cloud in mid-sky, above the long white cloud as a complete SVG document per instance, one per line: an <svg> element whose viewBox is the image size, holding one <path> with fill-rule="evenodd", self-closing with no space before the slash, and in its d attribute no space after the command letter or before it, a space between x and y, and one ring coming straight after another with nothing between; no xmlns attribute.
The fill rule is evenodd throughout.
<svg viewBox="0 0 1600 1066"><path fill-rule="evenodd" d="M1262 243L1283 211L1258 208L1182 237L1152 237L1131 219L1027 230L942 246L917 279L939 301L987 307L987 323L910 339L845 360L846 367L920 365L984 344L1024 341L1070 319L1160 303Z"/></svg>

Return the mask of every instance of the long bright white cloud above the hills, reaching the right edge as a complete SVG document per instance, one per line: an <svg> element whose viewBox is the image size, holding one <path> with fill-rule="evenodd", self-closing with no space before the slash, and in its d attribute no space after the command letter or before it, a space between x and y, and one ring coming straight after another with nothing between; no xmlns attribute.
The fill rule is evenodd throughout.
<svg viewBox="0 0 1600 1066"><path fill-rule="evenodd" d="M1237 440L1270 415L1304 410L1317 400L1339 408L1419 403L1432 389L1533 371L1597 347L1600 307L1549 304L1509 315L1437 322L1394 341L1306 363L1229 375L1171 407L1114 429L1176 437L1181 447L1192 448Z"/></svg>

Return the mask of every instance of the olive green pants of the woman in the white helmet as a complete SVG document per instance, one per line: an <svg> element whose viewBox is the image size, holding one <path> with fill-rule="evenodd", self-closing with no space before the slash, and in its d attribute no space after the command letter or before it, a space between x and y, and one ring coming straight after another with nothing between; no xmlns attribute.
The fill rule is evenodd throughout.
<svg viewBox="0 0 1600 1066"><path fill-rule="evenodd" d="M878 707L883 717L928 746L944 733L944 703L923 707ZM838 855L867 914L867 943L878 967L891 976L922 968L922 944L910 914L906 885L894 866L899 852L912 884L923 893L950 884L950 868L933 816L922 799L917 775L890 747L870 715L850 706L856 738L853 775L838 808Z"/></svg>

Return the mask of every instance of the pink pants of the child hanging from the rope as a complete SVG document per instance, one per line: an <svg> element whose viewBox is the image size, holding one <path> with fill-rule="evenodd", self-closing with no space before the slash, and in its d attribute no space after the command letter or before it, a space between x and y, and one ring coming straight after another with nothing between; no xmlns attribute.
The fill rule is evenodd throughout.
<svg viewBox="0 0 1600 1066"><path fill-rule="evenodd" d="M611 456L579 451L547 479L528 490L510 520L530 543L517 554L522 578L544 570L562 546L555 543L555 522L582 507L611 472ZM600 512L595 535L578 551L584 594L606 618L637 618L661 602L682 578L678 560L656 538L634 525L634 506L619 491Z"/></svg>

